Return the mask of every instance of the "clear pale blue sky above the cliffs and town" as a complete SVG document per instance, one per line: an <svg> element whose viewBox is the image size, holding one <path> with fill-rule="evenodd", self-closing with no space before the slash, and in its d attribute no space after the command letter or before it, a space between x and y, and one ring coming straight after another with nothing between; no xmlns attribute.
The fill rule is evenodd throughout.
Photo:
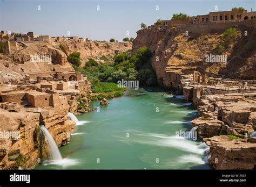
<svg viewBox="0 0 256 187"><path fill-rule="evenodd" d="M92 40L136 38L140 24L242 6L256 11L256 0L0 0L0 30Z"/></svg>

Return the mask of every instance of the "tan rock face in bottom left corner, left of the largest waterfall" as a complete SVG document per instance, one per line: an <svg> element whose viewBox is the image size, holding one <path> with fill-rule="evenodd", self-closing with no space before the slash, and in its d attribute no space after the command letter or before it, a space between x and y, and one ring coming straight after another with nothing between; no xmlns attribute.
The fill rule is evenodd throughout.
<svg viewBox="0 0 256 187"><path fill-rule="evenodd" d="M0 168L32 169L37 165L40 147L38 113L0 111L0 131L18 132L20 138L0 139Z"/></svg>

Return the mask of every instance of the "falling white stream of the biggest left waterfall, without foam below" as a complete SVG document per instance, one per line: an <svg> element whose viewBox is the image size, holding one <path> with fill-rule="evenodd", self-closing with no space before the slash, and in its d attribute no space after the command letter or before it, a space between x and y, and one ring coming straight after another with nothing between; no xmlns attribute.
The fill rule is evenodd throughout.
<svg viewBox="0 0 256 187"><path fill-rule="evenodd" d="M51 159L52 160L62 160L62 155L59 152L58 146L56 145L55 141L53 140L51 134L49 133L49 131L45 128L44 125L40 126L41 131L44 134L44 137L46 138L46 140L48 141L48 145L51 149Z"/></svg>

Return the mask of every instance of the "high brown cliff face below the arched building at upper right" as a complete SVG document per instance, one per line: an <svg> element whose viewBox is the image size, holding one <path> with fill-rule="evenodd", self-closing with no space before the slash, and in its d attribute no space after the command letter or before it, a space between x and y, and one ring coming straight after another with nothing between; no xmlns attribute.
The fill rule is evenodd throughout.
<svg viewBox="0 0 256 187"><path fill-rule="evenodd" d="M177 86L176 77L172 74L187 74L194 70L203 74L205 72L221 73L232 78L240 74L245 78L255 78L256 23L254 21L250 24L239 24L241 25L145 28L137 32L132 53L135 53L139 47L148 47L153 52L151 62L158 80L167 86ZM205 56L216 54L217 47L223 44L221 34L228 27L236 27L238 36L222 54L227 55L227 66L221 62L205 62ZM248 32L247 36L244 35L245 31ZM247 73L250 73L250 76Z"/></svg>

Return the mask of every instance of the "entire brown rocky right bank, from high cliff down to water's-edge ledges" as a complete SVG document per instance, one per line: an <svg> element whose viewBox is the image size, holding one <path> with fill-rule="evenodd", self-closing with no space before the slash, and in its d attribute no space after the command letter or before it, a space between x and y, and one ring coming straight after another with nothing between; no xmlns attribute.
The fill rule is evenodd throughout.
<svg viewBox="0 0 256 187"><path fill-rule="evenodd" d="M223 34L237 35L221 55L226 63L206 62L226 45ZM247 33L247 34L245 34ZM191 121L198 137L210 146L214 169L255 169L256 21L175 27L151 25L137 32L132 53L148 47L158 82L184 94L198 110Z"/></svg>

